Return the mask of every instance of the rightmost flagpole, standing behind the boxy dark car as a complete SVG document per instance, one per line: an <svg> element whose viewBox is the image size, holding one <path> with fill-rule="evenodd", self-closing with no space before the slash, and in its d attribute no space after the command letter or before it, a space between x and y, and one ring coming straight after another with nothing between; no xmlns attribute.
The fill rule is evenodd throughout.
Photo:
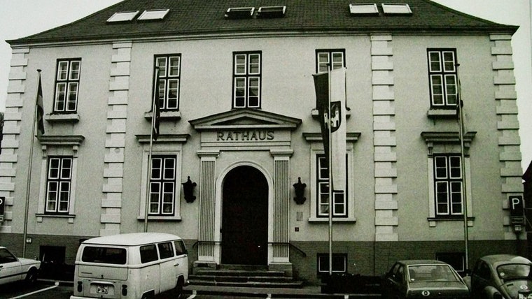
<svg viewBox="0 0 532 299"><path fill-rule="evenodd" d="M456 78L458 81L458 126L459 132L458 136L460 138L460 154L461 154L461 170L462 170L462 180L463 180L463 239L464 239L464 249L465 249L465 270L469 269L469 232L468 232L468 189L465 180L465 154L464 154L464 143L463 143L463 110L462 110L462 94L461 94L461 83L460 78L458 77L458 66L456 64Z"/></svg>

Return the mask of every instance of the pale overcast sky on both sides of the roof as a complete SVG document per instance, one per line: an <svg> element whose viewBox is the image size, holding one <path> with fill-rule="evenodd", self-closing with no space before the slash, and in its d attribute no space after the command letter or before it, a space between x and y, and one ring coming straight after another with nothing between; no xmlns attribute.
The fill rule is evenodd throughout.
<svg viewBox="0 0 532 299"><path fill-rule="evenodd" d="M464 13L519 25L512 39L523 171L532 161L532 61L530 0L434 0ZM45 31L120 0L0 0L0 111L6 109L11 49L6 40ZM282 2L282 1L281 1ZM369 1L371 2L371 1Z"/></svg>

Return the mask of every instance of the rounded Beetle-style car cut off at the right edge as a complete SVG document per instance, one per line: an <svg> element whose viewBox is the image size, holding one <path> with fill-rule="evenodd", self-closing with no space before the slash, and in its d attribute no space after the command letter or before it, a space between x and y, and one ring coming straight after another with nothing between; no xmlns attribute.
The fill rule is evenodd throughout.
<svg viewBox="0 0 532 299"><path fill-rule="evenodd" d="M471 296L479 299L532 299L532 262L496 254L479 258L471 272Z"/></svg>

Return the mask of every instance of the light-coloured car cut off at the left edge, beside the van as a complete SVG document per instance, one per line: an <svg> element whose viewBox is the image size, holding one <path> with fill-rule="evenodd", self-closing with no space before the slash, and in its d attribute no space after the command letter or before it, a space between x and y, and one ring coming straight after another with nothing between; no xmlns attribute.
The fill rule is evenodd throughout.
<svg viewBox="0 0 532 299"><path fill-rule="evenodd" d="M0 247L0 284L25 280L34 283L37 279L41 261L30 258L18 258L6 247Z"/></svg>

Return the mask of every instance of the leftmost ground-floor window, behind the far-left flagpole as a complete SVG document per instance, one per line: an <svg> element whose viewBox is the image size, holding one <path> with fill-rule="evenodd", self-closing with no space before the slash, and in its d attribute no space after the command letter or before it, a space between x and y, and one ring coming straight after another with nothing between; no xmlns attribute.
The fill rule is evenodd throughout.
<svg viewBox="0 0 532 299"><path fill-rule="evenodd" d="M46 213L68 213L72 181L72 158L50 157L46 182Z"/></svg>

